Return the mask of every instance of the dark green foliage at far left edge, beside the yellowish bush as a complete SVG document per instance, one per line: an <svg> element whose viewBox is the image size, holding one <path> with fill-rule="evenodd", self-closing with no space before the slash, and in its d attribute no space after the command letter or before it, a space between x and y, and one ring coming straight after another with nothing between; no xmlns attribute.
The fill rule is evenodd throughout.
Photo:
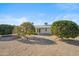
<svg viewBox="0 0 79 59"><path fill-rule="evenodd" d="M13 28L14 28L14 26L12 26L12 25L1 24L0 25L0 35L12 34Z"/></svg>

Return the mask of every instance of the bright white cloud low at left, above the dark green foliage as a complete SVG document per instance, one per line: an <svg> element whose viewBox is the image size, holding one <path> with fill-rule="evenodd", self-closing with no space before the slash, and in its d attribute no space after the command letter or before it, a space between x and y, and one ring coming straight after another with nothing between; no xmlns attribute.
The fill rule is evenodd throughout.
<svg viewBox="0 0 79 59"><path fill-rule="evenodd" d="M12 17L9 15L0 16L0 24L20 25L21 23L28 21L29 20L26 17Z"/></svg>

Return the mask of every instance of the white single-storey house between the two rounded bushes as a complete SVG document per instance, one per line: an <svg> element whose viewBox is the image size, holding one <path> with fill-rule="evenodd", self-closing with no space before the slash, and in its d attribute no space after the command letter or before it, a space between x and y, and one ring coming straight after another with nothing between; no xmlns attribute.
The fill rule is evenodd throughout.
<svg viewBox="0 0 79 59"><path fill-rule="evenodd" d="M50 25L36 25L36 33L37 34L51 34Z"/></svg>

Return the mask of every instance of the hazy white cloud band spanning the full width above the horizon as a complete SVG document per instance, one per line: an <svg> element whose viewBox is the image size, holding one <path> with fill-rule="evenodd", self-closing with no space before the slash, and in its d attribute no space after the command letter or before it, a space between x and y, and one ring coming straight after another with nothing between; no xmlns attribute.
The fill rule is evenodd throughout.
<svg viewBox="0 0 79 59"><path fill-rule="evenodd" d="M44 16L45 15L45 16ZM40 17L41 16L41 17ZM12 25L20 25L23 22L33 22L35 25L43 25L44 22L48 22L48 24L52 24L57 20L71 20L79 24L79 14L59 14L59 15L46 15L40 14L40 16L29 17L14 17L10 15L0 16L0 24L12 24Z"/></svg>

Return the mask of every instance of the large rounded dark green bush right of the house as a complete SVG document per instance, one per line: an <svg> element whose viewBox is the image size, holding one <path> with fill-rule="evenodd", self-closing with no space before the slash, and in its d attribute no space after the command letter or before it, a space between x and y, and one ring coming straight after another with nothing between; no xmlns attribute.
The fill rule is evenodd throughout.
<svg viewBox="0 0 79 59"><path fill-rule="evenodd" d="M60 38L75 38L79 34L78 25L67 20L54 22L51 25L51 31Z"/></svg>

